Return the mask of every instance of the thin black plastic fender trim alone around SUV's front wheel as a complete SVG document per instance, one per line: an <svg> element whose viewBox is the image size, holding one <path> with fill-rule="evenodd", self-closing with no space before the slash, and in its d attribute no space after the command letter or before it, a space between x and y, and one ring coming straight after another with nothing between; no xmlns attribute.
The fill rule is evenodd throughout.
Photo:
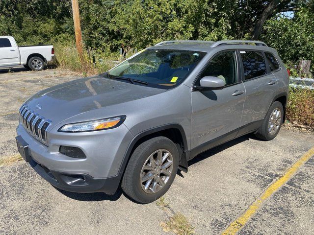
<svg viewBox="0 0 314 235"><path fill-rule="evenodd" d="M121 166L119 168L119 173L125 171L127 164L131 158L131 151L133 149L133 147L135 146L136 142L138 140L140 140L141 138L150 135L150 134L154 134L156 132L159 131L164 131L167 129L171 129L171 128L176 128L180 131L182 139L183 139L183 152L181 155L181 159L179 160L179 169L181 169L183 172L187 172L187 159L188 159L188 151L187 151L187 140L186 140L186 135L185 132L183 130L183 127L178 124L178 123L171 123L171 124L166 124L166 125L162 125L162 126L157 126L148 130L145 130L139 134L137 134L132 141L130 142L128 149L126 151L126 153L124 154Z"/></svg>

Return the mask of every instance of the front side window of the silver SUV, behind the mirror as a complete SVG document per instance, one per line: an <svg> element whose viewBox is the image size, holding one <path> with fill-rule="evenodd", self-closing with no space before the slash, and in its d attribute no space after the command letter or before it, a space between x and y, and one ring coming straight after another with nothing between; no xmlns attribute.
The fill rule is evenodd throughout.
<svg viewBox="0 0 314 235"><path fill-rule="evenodd" d="M214 76L222 79L225 86L237 83L235 51L221 52L212 58L200 78Z"/></svg>

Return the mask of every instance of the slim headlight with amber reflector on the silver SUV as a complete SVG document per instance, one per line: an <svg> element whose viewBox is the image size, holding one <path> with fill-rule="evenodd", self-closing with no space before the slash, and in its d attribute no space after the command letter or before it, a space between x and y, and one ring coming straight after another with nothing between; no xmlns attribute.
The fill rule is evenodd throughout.
<svg viewBox="0 0 314 235"><path fill-rule="evenodd" d="M126 116L119 116L113 118L98 119L92 121L77 122L72 124L66 124L62 126L59 132L88 132L88 131L100 131L105 129L112 129L120 126Z"/></svg>

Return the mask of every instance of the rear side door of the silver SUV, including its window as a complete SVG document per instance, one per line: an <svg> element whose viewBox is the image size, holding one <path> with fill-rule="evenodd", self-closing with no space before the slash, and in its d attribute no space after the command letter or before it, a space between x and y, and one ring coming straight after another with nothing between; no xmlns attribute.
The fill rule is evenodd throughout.
<svg viewBox="0 0 314 235"><path fill-rule="evenodd" d="M246 91L241 127L256 123L256 128L258 128L259 121L265 117L278 91L278 83L269 67L266 66L263 51L239 50L239 54Z"/></svg>

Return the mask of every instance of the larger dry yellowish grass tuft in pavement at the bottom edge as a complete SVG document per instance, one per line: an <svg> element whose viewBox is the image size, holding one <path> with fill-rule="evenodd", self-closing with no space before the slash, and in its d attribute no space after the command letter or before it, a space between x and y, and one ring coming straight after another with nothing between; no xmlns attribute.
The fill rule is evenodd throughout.
<svg viewBox="0 0 314 235"><path fill-rule="evenodd" d="M168 233L172 231L177 235L193 235L195 227L192 226L182 213L176 213L167 222L160 224L163 231Z"/></svg>

